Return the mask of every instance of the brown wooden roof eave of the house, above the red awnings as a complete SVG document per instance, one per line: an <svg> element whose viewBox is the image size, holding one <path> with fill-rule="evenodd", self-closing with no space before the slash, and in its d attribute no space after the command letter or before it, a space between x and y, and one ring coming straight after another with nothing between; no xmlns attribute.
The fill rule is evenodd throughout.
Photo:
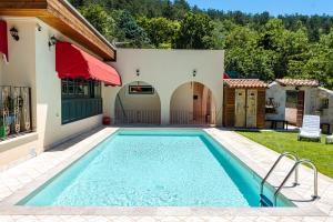
<svg viewBox="0 0 333 222"><path fill-rule="evenodd" d="M36 17L102 59L115 60L115 48L65 0L1 0L0 16Z"/></svg>

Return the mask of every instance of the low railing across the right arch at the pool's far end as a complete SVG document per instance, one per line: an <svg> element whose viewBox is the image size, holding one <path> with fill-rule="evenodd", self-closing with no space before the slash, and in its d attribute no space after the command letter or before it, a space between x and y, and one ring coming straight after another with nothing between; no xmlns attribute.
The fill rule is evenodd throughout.
<svg viewBox="0 0 333 222"><path fill-rule="evenodd" d="M215 112L209 114L201 111L189 110L171 110L170 111L170 124L178 125L205 125L215 124Z"/></svg>

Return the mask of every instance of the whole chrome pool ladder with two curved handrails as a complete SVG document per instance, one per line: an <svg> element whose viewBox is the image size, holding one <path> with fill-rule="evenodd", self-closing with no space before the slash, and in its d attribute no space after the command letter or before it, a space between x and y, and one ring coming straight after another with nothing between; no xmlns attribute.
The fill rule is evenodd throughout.
<svg viewBox="0 0 333 222"><path fill-rule="evenodd" d="M272 202L268 196L265 196L263 194L264 184L268 181L268 179L270 178L270 175L272 174L272 172L274 171L274 169L276 168L276 165L279 164L279 162L285 157L292 158L295 161L295 163L291 168L291 170L289 171L289 173L286 174L284 180L282 181L282 183L278 186L276 191L274 192L274 200ZM310 164L311 168L313 169L313 174L314 174L313 189L314 189L314 191L313 191L312 200L317 199L319 195L317 195L317 169L316 169L316 165L311 160L305 160L305 159L300 160L296 154L291 153L291 152L284 152L278 158L278 160L274 162L271 170L268 172L268 174L265 175L265 178L261 182L261 185L260 185L260 203L261 203L261 205L262 206L276 206L278 205L278 195L280 194L281 190L283 189L284 184L290 179L290 176L293 174L293 172L295 173L295 179L294 179L294 182L293 182L293 186L299 185L300 184L299 183L299 165L304 164L304 163Z"/></svg>

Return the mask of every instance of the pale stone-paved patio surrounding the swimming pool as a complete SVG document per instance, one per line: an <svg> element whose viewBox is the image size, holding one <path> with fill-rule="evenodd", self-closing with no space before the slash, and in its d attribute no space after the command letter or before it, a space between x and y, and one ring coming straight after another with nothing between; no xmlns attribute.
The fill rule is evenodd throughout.
<svg viewBox="0 0 333 222"><path fill-rule="evenodd" d="M74 160L82 157L99 142L108 138L117 128L105 128L75 140L63 143L52 151L21 163L0 173L0 222L13 221L323 221L333 222L333 180L319 175L319 194L321 199L309 200L313 192L313 172L300 168L301 185L284 189L283 194L299 208L250 209L250 208L27 208L13 206L24 193L38 188L42 181L52 178ZM231 153L241 159L260 176L279 157L253 141L232 131L205 129L205 131L225 147ZM279 184L292 165L289 159L283 160L276 169L276 176L269 182Z"/></svg>

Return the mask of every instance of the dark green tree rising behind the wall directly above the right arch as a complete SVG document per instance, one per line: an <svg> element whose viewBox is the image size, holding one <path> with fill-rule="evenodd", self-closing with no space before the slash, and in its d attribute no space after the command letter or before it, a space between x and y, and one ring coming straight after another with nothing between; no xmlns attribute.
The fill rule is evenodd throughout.
<svg viewBox="0 0 333 222"><path fill-rule="evenodd" d="M211 49L213 30L213 23L208 16L189 12L181 21L173 47L175 49Z"/></svg>

